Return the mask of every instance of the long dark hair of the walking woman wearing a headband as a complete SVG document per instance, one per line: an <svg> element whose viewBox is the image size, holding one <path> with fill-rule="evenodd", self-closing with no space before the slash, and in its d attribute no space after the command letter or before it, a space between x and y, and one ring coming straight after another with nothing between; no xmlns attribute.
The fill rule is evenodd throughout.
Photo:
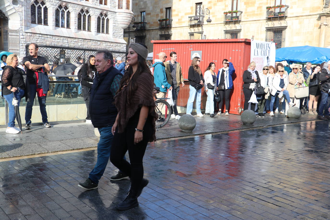
<svg viewBox="0 0 330 220"><path fill-rule="evenodd" d="M146 47L148 49L148 47L146 45L144 45L142 43L138 43L138 44L140 44L143 47ZM130 83L128 83L128 85L127 85L127 88L128 88L127 96L132 97L132 95L135 93L135 90L137 87L137 84L136 84L137 79L140 77L141 73L145 73L145 72L150 73L150 75L152 76L152 73L148 67L146 59L143 58L142 56L140 56L140 54L138 54L138 68L137 68L136 72L132 76L133 67L131 65L128 67L123 78L120 80L120 87L119 87L118 91L116 92L116 94L118 92L120 92L121 88L130 81ZM131 78L131 76L132 76L132 79L129 80ZM152 78L153 78L153 76L152 76ZM130 99L127 99L127 101L129 103Z"/></svg>

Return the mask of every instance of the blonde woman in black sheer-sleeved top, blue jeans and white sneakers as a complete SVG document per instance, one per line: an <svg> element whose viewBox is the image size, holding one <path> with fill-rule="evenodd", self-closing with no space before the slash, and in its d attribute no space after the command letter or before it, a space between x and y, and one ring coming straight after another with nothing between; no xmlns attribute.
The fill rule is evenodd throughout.
<svg viewBox="0 0 330 220"><path fill-rule="evenodd" d="M15 108L13 105L13 99L16 98L18 101L17 110L19 107L19 102L24 96L24 79L22 77L22 71L17 68L18 58L16 54L10 54L7 57L8 65L3 69L1 77L1 90L2 94L8 102L9 106L9 116L8 116L8 127L6 133L17 134L20 132L20 129L15 127ZM18 115L17 115L18 116ZM17 120L18 121L18 120Z"/></svg>

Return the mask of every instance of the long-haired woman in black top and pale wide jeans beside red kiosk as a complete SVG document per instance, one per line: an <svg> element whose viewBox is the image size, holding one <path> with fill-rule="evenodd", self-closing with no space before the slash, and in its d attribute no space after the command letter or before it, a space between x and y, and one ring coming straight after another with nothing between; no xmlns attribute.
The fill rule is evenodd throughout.
<svg viewBox="0 0 330 220"><path fill-rule="evenodd" d="M199 68L199 65L201 63L201 58L195 56L192 61L191 65L188 70L188 80L189 80L189 98L187 102L187 112L186 114L191 114L192 106L194 103L194 100L196 98L196 112L197 116L204 117L204 115L201 112L201 94L202 94L202 88L204 84L204 78L201 71L201 68Z"/></svg>

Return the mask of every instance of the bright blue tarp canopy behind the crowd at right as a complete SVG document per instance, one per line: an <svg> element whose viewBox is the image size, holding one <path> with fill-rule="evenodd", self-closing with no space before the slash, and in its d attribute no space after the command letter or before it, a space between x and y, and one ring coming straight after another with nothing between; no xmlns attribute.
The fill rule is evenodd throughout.
<svg viewBox="0 0 330 220"><path fill-rule="evenodd" d="M307 63L313 64L323 63L330 60L330 48L323 47L283 47L276 50L276 62L286 61L292 63Z"/></svg>

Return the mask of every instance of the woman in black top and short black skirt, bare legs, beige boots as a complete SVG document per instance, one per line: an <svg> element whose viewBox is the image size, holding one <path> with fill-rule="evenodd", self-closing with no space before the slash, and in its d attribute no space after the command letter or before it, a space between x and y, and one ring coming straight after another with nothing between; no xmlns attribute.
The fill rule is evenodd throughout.
<svg viewBox="0 0 330 220"><path fill-rule="evenodd" d="M320 71L321 71L321 65L317 64L314 69L313 73L310 76L310 84L309 84L309 101L308 101L308 114L317 114L316 108L317 108L317 101L318 98L321 95L321 90L318 87L318 84L311 85L311 82L320 81ZM315 84L315 83L314 83Z"/></svg>

